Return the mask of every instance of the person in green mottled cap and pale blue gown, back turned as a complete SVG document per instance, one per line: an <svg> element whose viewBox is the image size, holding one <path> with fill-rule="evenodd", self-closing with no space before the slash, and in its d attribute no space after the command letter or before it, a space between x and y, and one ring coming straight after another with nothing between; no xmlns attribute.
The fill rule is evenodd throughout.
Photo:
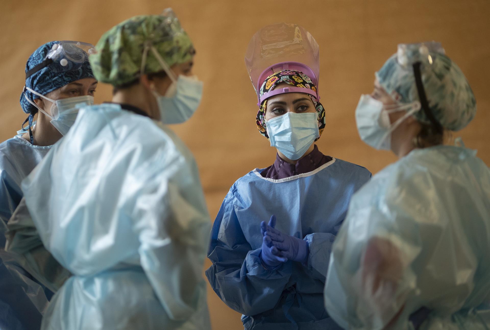
<svg viewBox="0 0 490 330"><path fill-rule="evenodd" d="M80 109L22 183L44 246L73 274L41 329L210 329L210 219L194 158L163 124L200 102L194 54L169 9L111 28L90 55L112 102Z"/></svg>

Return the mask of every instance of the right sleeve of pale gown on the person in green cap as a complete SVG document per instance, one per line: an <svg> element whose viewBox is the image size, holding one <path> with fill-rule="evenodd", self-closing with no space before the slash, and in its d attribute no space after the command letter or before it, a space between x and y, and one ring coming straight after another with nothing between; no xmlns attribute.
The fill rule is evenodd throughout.
<svg viewBox="0 0 490 330"><path fill-rule="evenodd" d="M179 155L167 158L155 184L138 192L131 218L136 219L143 270L169 317L182 321L206 297L202 265L211 221L196 165ZM151 165L141 168L141 175L151 171Z"/></svg>

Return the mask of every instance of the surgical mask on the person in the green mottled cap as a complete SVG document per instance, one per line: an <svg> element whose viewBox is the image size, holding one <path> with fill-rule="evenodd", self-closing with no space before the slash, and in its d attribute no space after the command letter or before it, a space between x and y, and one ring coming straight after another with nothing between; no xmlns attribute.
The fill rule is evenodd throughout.
<svg viewBox="0 0 490 330"><path fill-rule="evenodd" d="M164 96L153 91L158 102L161 121L165 124L183 123L196 112L202 96L202 82L194 77L179 75Z"/></svg>

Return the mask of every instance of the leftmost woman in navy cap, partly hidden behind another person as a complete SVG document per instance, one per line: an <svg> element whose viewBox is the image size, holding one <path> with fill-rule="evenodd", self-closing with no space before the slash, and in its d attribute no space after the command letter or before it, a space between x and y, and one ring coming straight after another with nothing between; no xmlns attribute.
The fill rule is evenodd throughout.
<svg viewBox="0 0 490 330"><path fill-rule="evenodd" d="M25 65L20 103L29 114L25 120L28 129L0 144L0 329L39 329L54 290L40 284L43 279L32 271L27 259L3 249L5 232L23 195L21 181L67 133L76 117L75 105L93 104L97 80L86 52L92 47L76 41L51 41L30 55ZM50 260L43 255L33 265L49 267Z"/></svg>

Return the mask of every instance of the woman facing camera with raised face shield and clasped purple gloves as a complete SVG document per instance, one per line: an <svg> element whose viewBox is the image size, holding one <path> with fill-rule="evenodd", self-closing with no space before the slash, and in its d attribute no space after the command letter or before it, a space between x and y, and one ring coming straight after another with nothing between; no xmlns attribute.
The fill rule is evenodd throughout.
<svg viewBox="0 0 490 330"><path fill-rule="evenodd" d="M298 46L294 52L310 65L287 61L297 53L280 45ZM264 58L270 49L282 55ZM311 52L318 52L311 34L282 23L259 30L245 57L258 86L257 126L277 155L230 188L213 225L213 265L206 271L221 300L243 314L245 329L340 329L323 308L328 258L350 196L370 173L315 145L326 125L312 69L319 68L318 53ZM281 62L259 77L250 70L272 58Z"/></svg>

